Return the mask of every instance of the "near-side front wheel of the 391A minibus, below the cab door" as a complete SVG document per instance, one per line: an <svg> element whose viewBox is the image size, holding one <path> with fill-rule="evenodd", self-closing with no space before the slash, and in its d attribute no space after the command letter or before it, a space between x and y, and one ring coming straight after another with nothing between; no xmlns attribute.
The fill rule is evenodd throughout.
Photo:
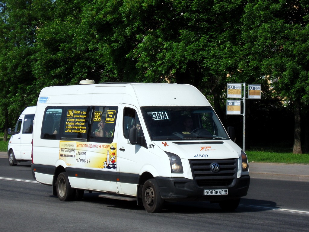
<svg viewBox="0 0 309 232"><path fill-rule="evenodd" d="M158 213L162 210L163 199L155 179L147 180L142 188L142 202L148 213Z"/></svg>

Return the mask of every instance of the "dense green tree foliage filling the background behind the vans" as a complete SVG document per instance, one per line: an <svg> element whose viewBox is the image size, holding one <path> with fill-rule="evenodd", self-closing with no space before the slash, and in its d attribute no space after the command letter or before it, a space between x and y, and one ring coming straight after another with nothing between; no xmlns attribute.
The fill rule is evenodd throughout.
<svg viewBox="0 0 309 232"><path fill-rule="evenodd" d="M43 87L82 79L193 84L242 128L225 114L226 83L245 82L263 90L248 103L249 145L308 152L308 11L307 0L0 1L0 128Z"/></svg>

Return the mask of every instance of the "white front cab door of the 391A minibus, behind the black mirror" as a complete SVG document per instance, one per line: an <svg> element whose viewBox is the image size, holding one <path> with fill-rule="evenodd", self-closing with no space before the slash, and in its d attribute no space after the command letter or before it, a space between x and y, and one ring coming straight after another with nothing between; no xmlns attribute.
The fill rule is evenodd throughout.
<svg viewBox="0 0 309 232"><path fill-rule="evenodd" d="M143 125L139 118L136 108L123 107L117 144L118 190L123 194L137 194L139 172L147 160L147 146L143 135ZM131 144L128 140L129 131L134 127L137 128L138 144Z"/></svg>

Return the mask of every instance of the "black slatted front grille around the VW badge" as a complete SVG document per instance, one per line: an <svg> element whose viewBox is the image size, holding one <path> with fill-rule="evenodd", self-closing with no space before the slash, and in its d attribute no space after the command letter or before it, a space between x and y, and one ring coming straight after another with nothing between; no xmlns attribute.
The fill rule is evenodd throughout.
<svg viewBox="0 0 309 232"><path fill-rule="evenodd" d="M237 178L237 159L189 160L193 180L198 187L228 187ZM218 163L220 170L211 171L211 165Z"/></svg>

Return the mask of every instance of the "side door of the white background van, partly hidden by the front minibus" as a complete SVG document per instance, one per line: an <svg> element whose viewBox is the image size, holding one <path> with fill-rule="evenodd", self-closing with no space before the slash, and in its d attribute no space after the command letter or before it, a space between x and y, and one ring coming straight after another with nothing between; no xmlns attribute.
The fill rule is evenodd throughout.
<svg viewBox="0 0 309 232"><path fill-rule="evenodd" d="M21 159L31 160L33 120L34 114L26 114L23 119L20 138Z"/></svg>

